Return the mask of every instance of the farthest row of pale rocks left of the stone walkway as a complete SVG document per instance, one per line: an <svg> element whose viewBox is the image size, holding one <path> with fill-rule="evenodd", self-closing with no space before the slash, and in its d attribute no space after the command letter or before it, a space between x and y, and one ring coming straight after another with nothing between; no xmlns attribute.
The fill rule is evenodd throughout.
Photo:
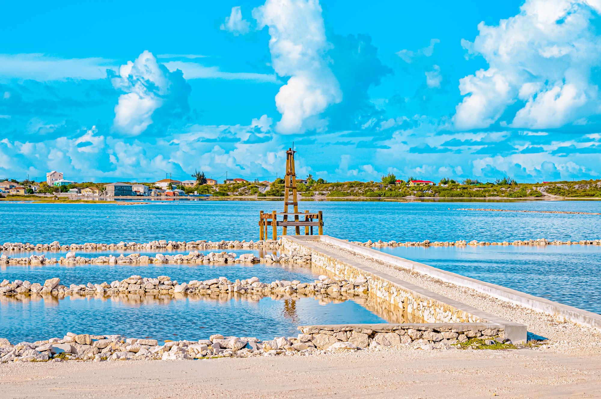
<svg viewBox="0 0 601 399"><path fill-rule="evenodd" d="M129 250L150 250L150 249L227 249L227 248L248 248L248 249L260 249L260 248L277 248L279 245L277 240L265 240L265 241L246 241L246 240L221 240L218 242L212 242L207 240L197 241L167 241L167 240L154 240L147 243L137 242L123 242L117 244L108 243L84 243L84 244L71 244L61 245L58 241L53 241L49 244L30 244L30 243L4 243L0 246L2 251L92 251L92 250L111 250L111 249L129 249Z"/></svg>

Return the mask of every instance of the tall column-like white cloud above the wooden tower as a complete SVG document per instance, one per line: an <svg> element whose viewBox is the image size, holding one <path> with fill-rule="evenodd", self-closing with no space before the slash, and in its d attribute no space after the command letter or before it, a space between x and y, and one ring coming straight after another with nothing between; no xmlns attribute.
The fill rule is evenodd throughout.
<svg viewBox="0 0 601 399"><path fill-rule="evenodd" d="M267 0L252 16L258 27L269 26L269 49L273 69L290 76L279 89L275 104L282 114L276 124L280 133L323 129L320 114L339 103L342 93L329 67L322 7L317 0Z"/></svg>

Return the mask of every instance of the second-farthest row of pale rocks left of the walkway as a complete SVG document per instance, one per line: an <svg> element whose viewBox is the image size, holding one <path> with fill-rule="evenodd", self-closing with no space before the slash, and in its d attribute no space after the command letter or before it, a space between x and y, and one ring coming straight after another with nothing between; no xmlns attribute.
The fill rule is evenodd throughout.
<svg viewBox="0 0 601 399"><path fill-rule="evenodd" d="M195 263L195 264L233 264L233 263L311 263L311 255L297 254L296 251L291 254L273 255L267 254L264 258L258 258L254 254L242 254L240 257L234 252L209 252L205 255L202 252L192 251L188 255L163 255L156 254L154 257L140 254L121 254L118 257L114 255L100 256L95 258L86 258L76 255L75 251L67 252L64 257L46 258L46 255L30 255L29 257L10 258L6 254L0 256L0 264L27 265L27 264L148 264L148 263Z"/></svg>

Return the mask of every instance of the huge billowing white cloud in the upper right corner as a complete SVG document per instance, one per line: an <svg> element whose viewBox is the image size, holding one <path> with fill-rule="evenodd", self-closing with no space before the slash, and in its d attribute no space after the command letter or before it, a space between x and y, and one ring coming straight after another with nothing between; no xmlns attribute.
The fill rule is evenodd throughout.
<svg viewBox="0 0 601 399"><path fill-rule="evenodd" d="M601 64L599 11L601 3L593 0L526 0L519 14L498 26L481 22L474 43L462 44L482 55L489 68L460 79L465 97L455 126L586 124L601 109L594 73Z"/></svg>

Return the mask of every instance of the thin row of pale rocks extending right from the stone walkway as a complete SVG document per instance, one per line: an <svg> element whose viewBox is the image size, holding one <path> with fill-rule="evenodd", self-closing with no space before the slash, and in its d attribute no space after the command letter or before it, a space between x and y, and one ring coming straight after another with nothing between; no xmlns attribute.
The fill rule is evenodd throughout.
<svg viewBox="0 0 601 399"><path fill-rule="evenodd" d="M396 241L382 241L378 240L376 242L372 242L368 240L367 242L359 242L353 241L353 244L361 245L361 246L375 246L375 247L383 247L383 246L486 246L486 245L530 245L530 246L545 246L545 245L601 245L601 240L580 240L580 241L560 241L554 240L549 241L547 239L537 239L537 240L515 240L515 241L503 241L503 242L487 242L487 241L478 241L478 240L457 240L457 241L434 241L430 242L430 240L424 241L407 241L407 242L396 242Z"/></svg>

